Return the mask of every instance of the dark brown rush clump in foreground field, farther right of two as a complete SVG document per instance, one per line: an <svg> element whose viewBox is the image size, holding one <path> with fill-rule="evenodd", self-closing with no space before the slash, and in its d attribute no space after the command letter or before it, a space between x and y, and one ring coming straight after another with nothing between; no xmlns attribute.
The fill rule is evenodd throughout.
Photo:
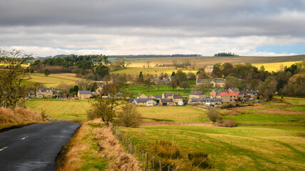
<svg viewBox="0 0 305 171"><path fill-rule="evenodd" d="M208 160L209 155L205 152L197 151L188 154L189 160L192 161L191 165L201 169L211 168L211 163Z"/></svg>

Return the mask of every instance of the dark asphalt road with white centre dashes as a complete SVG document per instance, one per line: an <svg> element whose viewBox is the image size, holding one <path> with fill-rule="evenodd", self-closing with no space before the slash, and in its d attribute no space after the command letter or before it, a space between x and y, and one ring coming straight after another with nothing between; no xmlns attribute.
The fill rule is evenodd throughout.
<svg viewBox="0 0 305 171"><path fill-rule="evenodd" d="M37 123L0 133L0 170L56 170L55 159L80 123Z"/></svg>

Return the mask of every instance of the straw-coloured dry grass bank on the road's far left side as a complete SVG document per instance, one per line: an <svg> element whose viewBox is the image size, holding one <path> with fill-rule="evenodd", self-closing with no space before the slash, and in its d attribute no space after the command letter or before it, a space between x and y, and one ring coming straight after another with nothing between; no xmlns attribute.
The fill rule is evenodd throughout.
<svg viewBox="0 0 305 171"><path fill-rule="evenodd" d="M0 108L0 130L12 126L44 122L41 115L26 108Z"/></svg>

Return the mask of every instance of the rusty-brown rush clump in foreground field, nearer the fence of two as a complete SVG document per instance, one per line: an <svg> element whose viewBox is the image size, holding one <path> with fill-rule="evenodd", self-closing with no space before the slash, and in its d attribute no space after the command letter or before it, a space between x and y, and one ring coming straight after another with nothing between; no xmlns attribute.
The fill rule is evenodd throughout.
<svg viewBox="0 0 305 171"><path fill-rule="evenodd" d="M176 159L180 157L179 147L176 147L168 140L157 141L154 144L154 152L156 152L159 157L167 159Z"/></svg>

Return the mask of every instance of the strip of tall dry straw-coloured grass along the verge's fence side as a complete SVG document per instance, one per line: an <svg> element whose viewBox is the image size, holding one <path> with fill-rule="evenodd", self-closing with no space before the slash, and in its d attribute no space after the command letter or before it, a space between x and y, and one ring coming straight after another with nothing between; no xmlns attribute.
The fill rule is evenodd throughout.
<svg viewBox="0 0 305 171"><path fill-rule="evenodd" d="M104 158L112 162L106 170L141 170L136 158L124 152L124 148L112 134L111 128L106 126L96 128L93 133L98 140L99 149Z"/></svg>

